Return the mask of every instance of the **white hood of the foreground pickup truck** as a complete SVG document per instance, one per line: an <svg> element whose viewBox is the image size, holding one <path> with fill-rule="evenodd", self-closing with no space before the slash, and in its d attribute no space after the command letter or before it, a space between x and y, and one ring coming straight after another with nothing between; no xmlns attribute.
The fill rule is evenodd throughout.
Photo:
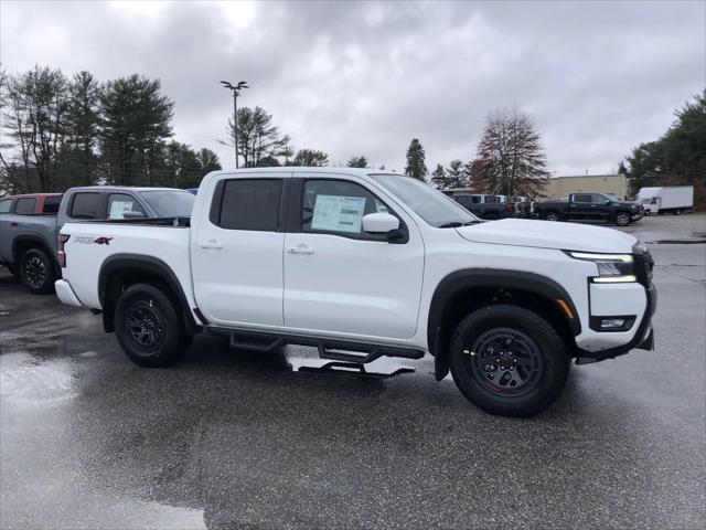
<svg viewBox="0 0 706 530"><path fill-rule="evenodd" d="M638 240L613 229L587 224L504 219L460 226L461 237L478 243L534 246L560 251L630 254Z"/></svg>

